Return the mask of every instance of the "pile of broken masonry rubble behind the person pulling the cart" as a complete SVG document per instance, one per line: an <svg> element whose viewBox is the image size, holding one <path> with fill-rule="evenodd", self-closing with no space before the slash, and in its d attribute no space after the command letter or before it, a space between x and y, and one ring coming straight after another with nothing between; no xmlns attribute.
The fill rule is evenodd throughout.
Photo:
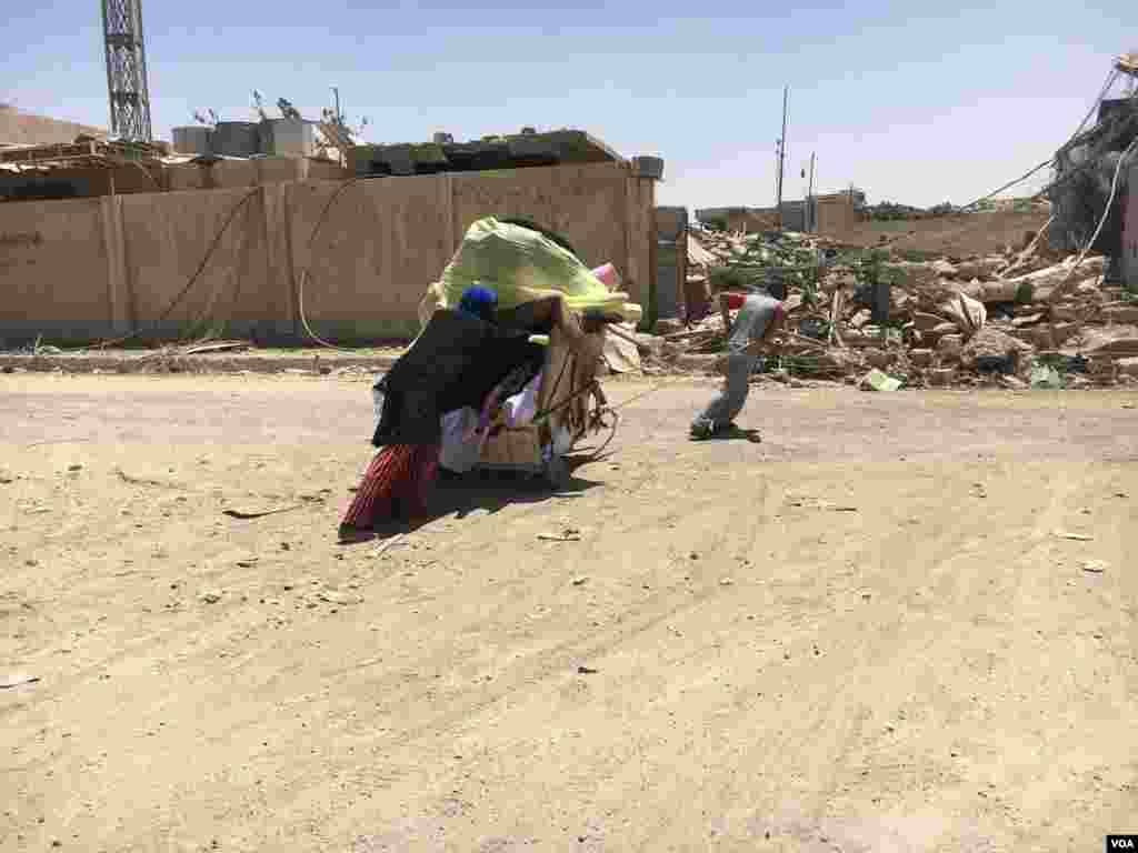
<svg viewBox="0 0 1138 853"><path fill-rule="evenodd" d="M717 292L784 299L778 355L754 381L908 387L1090 387L1138 379L1138 299L1104 283L1104 258L1056 258L1042 240L989 257L908 262L817 235L701 232L691 280L711 310L696 322L625 330L617 372L719 373L726 333ZM613 362L613 358L609 359ZM667 366L667 367L666 367Z"/></svg>

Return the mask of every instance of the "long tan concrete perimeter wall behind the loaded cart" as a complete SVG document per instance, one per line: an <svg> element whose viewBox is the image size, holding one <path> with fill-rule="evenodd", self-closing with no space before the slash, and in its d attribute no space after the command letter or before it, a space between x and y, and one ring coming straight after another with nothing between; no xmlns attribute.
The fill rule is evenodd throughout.
<svg viewBox="0 0 1138 853"><path fill-rule="evenodd" d="M615 263L643 304L653 206L653 182L626 164L0 205L0 339L80 342L140 329L139 340L302 339L310 264L304 309L318 334L412 336L427 285L487 215L563 233L591 266Z"/></svg>

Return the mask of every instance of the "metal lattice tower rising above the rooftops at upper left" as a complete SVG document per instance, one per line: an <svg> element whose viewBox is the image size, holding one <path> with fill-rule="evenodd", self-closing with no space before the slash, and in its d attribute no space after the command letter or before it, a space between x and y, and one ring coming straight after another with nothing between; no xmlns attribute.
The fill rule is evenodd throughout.
<svg viewBox="0 0 1138 853"><path fill-rule="evenodd" d="M101 0L101 5L110 133L131 142L149 142L150 92L142 44L142 0Z"/></svg>

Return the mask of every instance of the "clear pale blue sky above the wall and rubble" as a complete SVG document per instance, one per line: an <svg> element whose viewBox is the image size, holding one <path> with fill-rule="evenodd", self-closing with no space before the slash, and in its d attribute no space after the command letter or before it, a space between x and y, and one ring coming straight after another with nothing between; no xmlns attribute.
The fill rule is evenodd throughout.
<svg viewBox="0 0 1138 853"><path fill-rule="evenodd" d="M7 6L0 101L106 126L99 0ZM338 85L373 142L579 127L663 157L663 204L759 206L785 83L787 197L813 150L823 191L964 204L1048 157L1138 42L1123 0L770 6L145 0L155 132L249 118L253 89L318 117Z"/></svg>

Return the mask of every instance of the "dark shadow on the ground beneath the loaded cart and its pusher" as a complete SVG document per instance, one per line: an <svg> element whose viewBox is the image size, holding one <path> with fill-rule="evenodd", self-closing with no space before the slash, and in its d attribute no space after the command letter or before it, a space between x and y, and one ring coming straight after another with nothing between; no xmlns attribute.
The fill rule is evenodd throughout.
<svg viewBox="0 0 1138 853"><path fill-rule="evenodd" d="M438 519L454 515L465 519L479 510L489 514L501 512L511 504L541 504L551 498L577 498L601 483L577 475L586 463L604 456L589 454L563 456L564 475L558 485L542 477L510 471L472 471L468 474L443 474L435 479L427 499L428 512L411 521L390 519L377 522L371 530L340 530L340 545L390 539L411 533Z"/></svg>

